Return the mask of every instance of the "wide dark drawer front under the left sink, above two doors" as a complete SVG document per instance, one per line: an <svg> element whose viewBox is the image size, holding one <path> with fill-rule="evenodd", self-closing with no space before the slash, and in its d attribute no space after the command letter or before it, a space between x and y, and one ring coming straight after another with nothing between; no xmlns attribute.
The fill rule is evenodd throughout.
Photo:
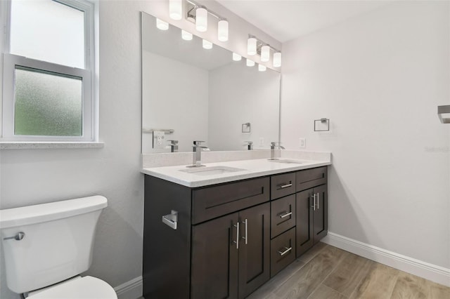
<svg viewBox="0 0 450 299"><path fill-rule="evenodd" d="M269 178L193 190L192 224L269 201Z"/></svg>

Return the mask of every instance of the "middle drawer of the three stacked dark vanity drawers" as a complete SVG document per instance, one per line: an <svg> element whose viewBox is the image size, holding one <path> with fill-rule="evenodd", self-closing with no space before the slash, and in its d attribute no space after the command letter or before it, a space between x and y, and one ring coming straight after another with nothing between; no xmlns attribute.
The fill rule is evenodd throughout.
<svg viewBox="0 0 450 299"><path fill-rule="evenodd" d="M295 194L271 201L271 237L295 226Z"/></svg>

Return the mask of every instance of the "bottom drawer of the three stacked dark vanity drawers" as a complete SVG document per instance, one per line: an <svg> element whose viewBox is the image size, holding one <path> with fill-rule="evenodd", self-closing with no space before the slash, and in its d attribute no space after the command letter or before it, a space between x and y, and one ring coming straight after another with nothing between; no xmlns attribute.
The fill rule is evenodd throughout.
<svg viewBox="0 0 450 299"><path fill-rule="evenodd" d="M270 277L295 260L295 227L271 241Z"/></svg>

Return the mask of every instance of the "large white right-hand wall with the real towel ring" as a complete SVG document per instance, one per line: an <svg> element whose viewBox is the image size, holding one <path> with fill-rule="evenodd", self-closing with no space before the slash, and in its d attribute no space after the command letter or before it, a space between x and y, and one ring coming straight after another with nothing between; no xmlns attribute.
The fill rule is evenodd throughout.
<svg viewBox="0 0 450 299"><path fill-rule="evenodd" d="M285 145L333 152L330 232L447 269L449 15L397 1L283 44L281 107Z"/></svg>

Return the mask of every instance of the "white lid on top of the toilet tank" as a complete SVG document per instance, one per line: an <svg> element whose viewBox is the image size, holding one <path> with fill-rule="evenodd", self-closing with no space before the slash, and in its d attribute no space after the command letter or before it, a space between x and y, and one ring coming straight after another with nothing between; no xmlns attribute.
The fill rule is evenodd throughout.
<svg viewBox="0 0 450 299"><path fill-rule="evenodd" d="M36 204L20 208L0 210L0 228L32 225L34 223L68 218L89 213L108 206L108 200L101 196L82 197L55 201L49 204Z"/></svg>

